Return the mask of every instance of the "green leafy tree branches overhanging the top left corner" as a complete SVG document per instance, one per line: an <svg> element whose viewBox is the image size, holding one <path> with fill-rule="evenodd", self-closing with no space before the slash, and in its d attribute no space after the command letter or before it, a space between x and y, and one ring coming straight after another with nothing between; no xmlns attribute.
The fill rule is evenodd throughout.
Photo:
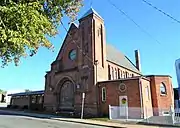
<svg viewBox="0 0 180 128"><path fill-rule="evenodd" d="M60 20L76 19L82 0L0 0L0 59L2 66L33 56L40 47L53 48Z"/></svg>

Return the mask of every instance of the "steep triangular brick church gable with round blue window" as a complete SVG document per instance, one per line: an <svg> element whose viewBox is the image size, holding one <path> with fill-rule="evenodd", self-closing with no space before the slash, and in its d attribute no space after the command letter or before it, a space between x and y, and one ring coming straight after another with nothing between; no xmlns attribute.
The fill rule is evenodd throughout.
<svg viewBox="0 0 180 128"><path fill-rule="evenodd" d="M78 39L78 27L75 24L71 24L56 60L51 64L52 70L63 71L77 67Z"/></svg>

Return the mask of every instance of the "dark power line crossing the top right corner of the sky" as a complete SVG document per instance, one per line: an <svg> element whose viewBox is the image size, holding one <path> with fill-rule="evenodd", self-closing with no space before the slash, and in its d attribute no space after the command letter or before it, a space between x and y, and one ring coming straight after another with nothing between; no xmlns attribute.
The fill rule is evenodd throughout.
<svg viewBox="0 0 180 128"><path fill-rule="evenodd" d="M153 4L149 3L146 0L142 0L144 3L146 3L147 5L151 6L152 8L154 8L155 10L159 11L160 13L164 14L165 16L167 16L168 18L174 20L177 23L180 23L180 20L177 20L176 18L174 18L173 16L171 16L170 14L164 12L163 10L157 8L156 6L154 6Z"/></svg>

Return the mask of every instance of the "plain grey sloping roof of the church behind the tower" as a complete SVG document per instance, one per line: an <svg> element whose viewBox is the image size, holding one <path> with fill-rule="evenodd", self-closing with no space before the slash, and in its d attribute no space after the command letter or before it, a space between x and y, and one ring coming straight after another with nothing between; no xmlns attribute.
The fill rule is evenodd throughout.
<svg viewBox="0 0 180 128"><path fill-rule="evenodd" d="M136 68L136 66L120 51L114 48L112 45L106 45L107 60L113 62L119 66L127 68L133 72L141 74L141 72Z"/></svg>

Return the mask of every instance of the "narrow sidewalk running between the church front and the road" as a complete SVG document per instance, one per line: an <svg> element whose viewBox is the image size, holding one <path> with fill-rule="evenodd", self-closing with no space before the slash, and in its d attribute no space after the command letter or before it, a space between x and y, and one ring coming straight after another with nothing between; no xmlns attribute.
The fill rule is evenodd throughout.
<svg viewBox="0 0 180 128"><path fill-rule="evenodd" d="M113 128L158 128L159 127L159 126L145 126L145 125L138 125L138 124L123 124L123 123L116 123L116 122L96 121L96 120L90 120L90 119L63 118L60 116L28 113L28 112L23 112L23 111L0 110L0 112L5 112L8 114L30 116L30 117L37 117L37 118L44 118L44 119L51 119L51 120L66 121L66 122L106 126L106 127L113 127Z"/></svg>

